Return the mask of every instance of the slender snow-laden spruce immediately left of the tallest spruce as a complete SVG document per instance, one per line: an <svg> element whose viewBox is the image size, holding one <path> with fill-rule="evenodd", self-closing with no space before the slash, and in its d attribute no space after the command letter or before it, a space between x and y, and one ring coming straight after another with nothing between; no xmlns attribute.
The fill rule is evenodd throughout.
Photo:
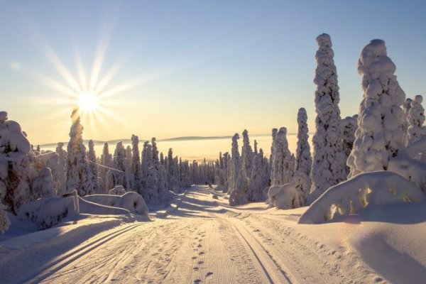
<svg viewBox="0 0 426 284"><path fill-rule="evenodd" d="M295 175L297 187L304 193L305 198L310 192L312 185L310 179L310 170L312 167L312 157L310 153L309 135L307 129L307 114L304 108L297 111L297 147L295 156ZM305 202L302 202L305 204Z"/></svg>

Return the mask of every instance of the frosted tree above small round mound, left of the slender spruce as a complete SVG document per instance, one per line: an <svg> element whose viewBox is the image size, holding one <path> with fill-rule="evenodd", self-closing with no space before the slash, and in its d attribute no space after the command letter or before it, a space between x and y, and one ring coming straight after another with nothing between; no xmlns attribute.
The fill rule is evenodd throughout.
<svg viewBox="0 0 426 284"><path fill-rule="evenodd" d="M271 185L284 185L292 180L293 163L288 150L287 129L281 127L273 141Z"/></svg>

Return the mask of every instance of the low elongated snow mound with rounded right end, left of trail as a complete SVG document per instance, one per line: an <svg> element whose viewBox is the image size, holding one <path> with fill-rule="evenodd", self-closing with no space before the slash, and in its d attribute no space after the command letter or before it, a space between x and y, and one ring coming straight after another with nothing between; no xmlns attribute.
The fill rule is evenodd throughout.
<svg viewBox="0 0 426 284"><path fill-rule="evenodd" d="M145 200L136 192L127 192L124 195L87 195L82 197L82 199L107 207L124 208L133 214L148 214L148 207Z"/></svg>

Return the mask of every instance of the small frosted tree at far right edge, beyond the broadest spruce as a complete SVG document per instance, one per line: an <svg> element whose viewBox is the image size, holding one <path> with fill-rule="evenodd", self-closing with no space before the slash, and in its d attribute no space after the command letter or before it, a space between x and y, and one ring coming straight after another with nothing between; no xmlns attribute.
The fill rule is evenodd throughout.
<svg viewBox="0 0 426 284"><path fill-rule="evenodd" d="M407 145L415 143L426 134L425 109L422 107L423 97L417 94L411 102L411 108L408 111L407 121Z"/></svg>

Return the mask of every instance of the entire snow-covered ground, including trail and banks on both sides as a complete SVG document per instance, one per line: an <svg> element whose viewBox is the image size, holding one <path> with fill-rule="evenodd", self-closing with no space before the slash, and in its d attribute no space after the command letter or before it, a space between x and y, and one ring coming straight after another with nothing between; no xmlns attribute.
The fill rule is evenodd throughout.
<svg viewBox="0 0 426 284"><path fill-rule="evenodd" d="M11 227L0 283L424 283L424 203L314 225L297 224L307 207L229 207L225 196L193 186L149 221L85 215L31 234Z"/></svg>

